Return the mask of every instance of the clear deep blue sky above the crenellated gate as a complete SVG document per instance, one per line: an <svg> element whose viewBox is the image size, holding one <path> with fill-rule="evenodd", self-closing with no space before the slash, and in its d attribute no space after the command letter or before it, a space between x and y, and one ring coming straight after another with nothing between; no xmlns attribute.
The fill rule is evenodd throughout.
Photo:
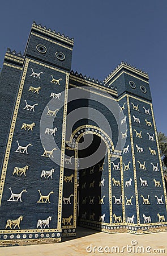
<svg viewBox="0 0 167 256"><path fill-rule="evenodd" d="M122 60L149 74L157 130L167 135L166 0L1 1L0 67L24 52L32 22L75 39L72 69L103 80Z"/></svg>

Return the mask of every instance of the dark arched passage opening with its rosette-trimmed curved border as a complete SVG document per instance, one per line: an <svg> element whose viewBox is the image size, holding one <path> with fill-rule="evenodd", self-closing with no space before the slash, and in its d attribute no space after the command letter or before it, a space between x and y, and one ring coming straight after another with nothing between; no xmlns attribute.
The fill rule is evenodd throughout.
<svg viewBox="0 0 167 256"><path fill-rule="evenodd" d="M90 125L79 127L72 137L75 139L75 157L80 159L78 224L101 230L104 228L102 224L112 222L110 154L114 151L113 142L99 127ZM89 141L89 137L91 144L80 150L80 142ZM95 156L95 159L91 158L93 162L89 161L92 155Z"/></svg>

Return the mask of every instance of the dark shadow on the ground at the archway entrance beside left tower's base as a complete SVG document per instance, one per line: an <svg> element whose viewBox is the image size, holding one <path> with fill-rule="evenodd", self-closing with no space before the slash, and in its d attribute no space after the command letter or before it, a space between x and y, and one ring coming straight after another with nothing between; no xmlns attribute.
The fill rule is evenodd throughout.
<svg viewBox="0 0 167 256"><path fill-rule="evenodd" d="M100 233L100 232L101 231L94 230L94 229L87 229L87 228L83 228L82 226L78 226L76 228L76 237L62 237L62 242L74 240L74 239L80 238L80 237L90 236L92 234L96 234L96 233Z"/></svg>

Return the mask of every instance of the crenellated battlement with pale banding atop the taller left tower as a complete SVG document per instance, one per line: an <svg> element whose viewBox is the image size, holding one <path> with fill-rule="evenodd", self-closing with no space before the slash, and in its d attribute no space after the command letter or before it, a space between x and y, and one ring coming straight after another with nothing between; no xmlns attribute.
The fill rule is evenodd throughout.
<svg viewBox="0 0 167 256"><path fill-rule="evenodd" d="M60 32L56 32L55 30L51 30L46 26L43 27L41 24L37 24L35 21L32 24L32 30L41 32L42 34L51 36L52 38L56 38L60 41L63 41L64 43L68 43L71 46L74 46L74 38L69 38L68 36L61 34Z"/></svg>

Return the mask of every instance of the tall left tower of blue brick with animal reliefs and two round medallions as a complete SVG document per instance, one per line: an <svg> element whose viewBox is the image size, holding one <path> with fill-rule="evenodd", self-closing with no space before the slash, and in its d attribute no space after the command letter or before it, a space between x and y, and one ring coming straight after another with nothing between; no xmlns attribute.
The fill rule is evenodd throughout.
<svg viewBox="0 0 167 256"><path fill-rule="evenodd" d="M8 135L3 140L4 144L7 139L1 172L1 228L5 233L11 229L4 237L11 244L25 238L35 243L41 238L61 240L66 101L73 43L73 39L34 22L24 57L9 49L5 56L1 87L6 97L11 86L12 95L9 105L5 102L2 106L4 116L10 112L11 123L5 121L2 130L2 135ZM52 135L56 135L58 146ZM18 234L16 229L22 231Z"/></svg>

